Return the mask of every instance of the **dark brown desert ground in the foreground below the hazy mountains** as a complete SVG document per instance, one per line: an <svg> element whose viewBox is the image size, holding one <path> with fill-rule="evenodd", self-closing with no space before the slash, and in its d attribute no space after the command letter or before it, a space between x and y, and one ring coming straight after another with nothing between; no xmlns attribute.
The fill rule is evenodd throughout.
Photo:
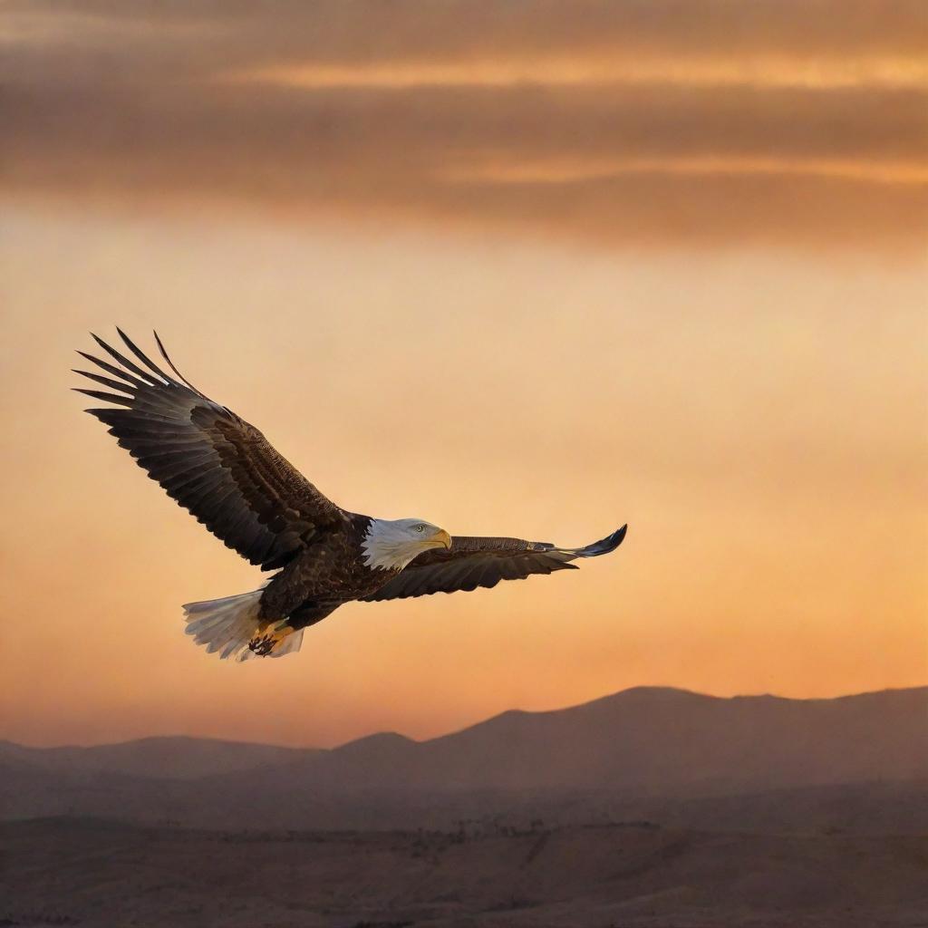
<svg viewBox="0 0 928 928"><path fill-rule="evenodd" d="M928 836L0 826L0 924L228 928L928 925Z"/></svg>

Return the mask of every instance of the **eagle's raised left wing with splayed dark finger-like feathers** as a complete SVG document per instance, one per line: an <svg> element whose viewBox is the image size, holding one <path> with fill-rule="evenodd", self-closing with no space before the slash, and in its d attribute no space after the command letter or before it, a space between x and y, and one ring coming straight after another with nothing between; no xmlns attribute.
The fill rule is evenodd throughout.
<svg viewBox="0 0 928 928"><path fill-rule="evenodd" d="M269 570L290 561L321 528L347 518L261 432L185 380L157 332L161 356L178 379L117 331L140 363L95 335L116 364L78 354L111 376L75 373L119 392L75 389L115 405L87 412L110 426L148 476L228 548Z"/></svg>

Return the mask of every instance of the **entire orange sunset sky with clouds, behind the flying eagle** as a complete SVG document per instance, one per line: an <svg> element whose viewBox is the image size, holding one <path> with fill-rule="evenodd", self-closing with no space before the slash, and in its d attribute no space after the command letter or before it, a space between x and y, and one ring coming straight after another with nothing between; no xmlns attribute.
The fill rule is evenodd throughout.
<svg viewBox="0 0 928 928"><path fill-rule="evenodd" d="M0 738L928 683L921 0L13 0L0 49ZM68 393L114 324L347 509L625 545L219 662L180 604L262 578Z"/></svg>

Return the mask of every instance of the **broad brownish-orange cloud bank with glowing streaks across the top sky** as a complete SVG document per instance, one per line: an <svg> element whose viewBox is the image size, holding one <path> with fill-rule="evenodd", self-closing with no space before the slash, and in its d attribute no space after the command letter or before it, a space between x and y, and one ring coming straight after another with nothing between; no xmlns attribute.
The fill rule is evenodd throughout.
<svg viewBox="0 0 928 928"><path fill-rule="evenodd" d="M8 193L912 248L922 4L11 5Z"/></svg>

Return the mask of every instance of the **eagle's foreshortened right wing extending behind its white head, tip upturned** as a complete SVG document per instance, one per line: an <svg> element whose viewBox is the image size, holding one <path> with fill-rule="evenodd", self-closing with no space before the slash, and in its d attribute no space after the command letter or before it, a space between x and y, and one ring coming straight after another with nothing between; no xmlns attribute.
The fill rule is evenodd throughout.
<svg viewBox="0 0 928 928"><path fill-rule="evenodd" d="M586 548L556 548L521 538L454 537L451 548L432 548L381 586L365 602L406 599L431 593L454 593L478 586L496 586L500 580L523 580L530 574L576 570L577 558L608 554L622 544L626 525Z"/></svg>

